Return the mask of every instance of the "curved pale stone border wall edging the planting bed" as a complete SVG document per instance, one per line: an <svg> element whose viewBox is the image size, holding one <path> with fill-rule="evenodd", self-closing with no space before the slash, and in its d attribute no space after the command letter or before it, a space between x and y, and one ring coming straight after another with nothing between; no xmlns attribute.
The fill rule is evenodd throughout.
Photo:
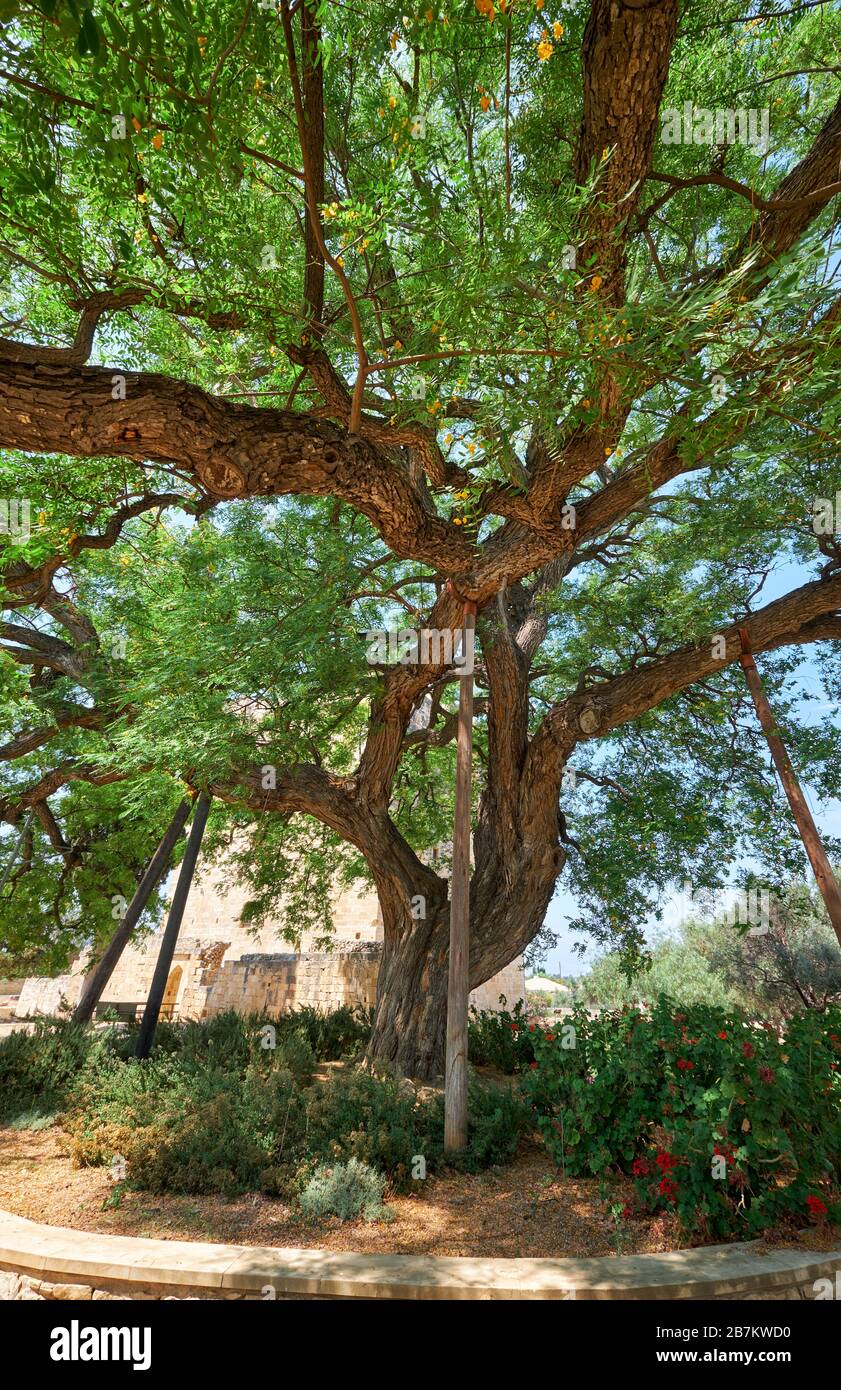
<svg viewBox="0 0 841 1390"><path fill-rule="evenodd" d="M815 1298L819 1279L837 1293L841 1250L752 1243L598 1259L350 1255L97 1236L0 1212L0 1269L22 1276L22 1297L49 1298Z"/></svg>

